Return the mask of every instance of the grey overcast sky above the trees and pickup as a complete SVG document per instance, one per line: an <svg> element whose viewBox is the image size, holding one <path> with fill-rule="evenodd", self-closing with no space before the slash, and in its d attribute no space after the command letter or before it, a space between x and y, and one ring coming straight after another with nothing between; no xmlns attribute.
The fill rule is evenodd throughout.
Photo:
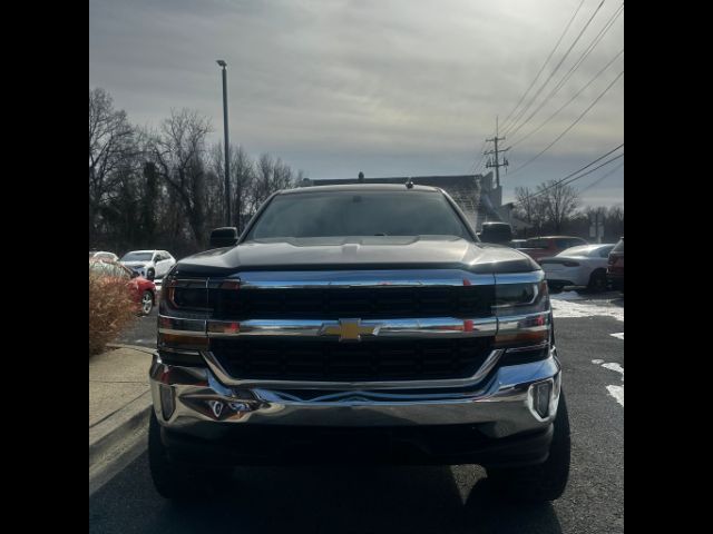
<svg viewBox="0 0 713 534"><path fill-rule="evenodd" d="M231 141L271 152L311 178L468 174L555 47L582 0L90 0L89 87L102 87L139 125L172 108L208 116L223 139L221 72L228 63ZM602 0L584 0L540 82ZM622 4L604 1L529 116ZM619 16L580 67L518 132L517 142L624 48ZM507 155L506 200L517 186L564 178L624 142L619 56L569 106ZM525 102L535 96L536 83ZM517 115L517 113L516 113ZM507 126L507 125L506 125ZM510 134L510 135L508 135ZM491 147L490 147L491 148ZM617 152L618 154L618 152ZM577 180L586 188L623 159ZM487 170L480 168L479 170ZM583 192L624 200L618 168Z"/></svg>

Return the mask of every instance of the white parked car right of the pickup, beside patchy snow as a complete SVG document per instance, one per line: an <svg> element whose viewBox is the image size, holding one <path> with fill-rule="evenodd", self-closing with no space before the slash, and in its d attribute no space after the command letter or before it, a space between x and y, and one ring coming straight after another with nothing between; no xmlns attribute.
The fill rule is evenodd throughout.
<svg viewBox="0 0 713 534"><path fill-rule="evenodd" d="M614 244L572 247L557 256L541 258L539 265L543 266L547 285L553 290L576 286L603 291L607 287L606 266L613 248Z"/></svg>

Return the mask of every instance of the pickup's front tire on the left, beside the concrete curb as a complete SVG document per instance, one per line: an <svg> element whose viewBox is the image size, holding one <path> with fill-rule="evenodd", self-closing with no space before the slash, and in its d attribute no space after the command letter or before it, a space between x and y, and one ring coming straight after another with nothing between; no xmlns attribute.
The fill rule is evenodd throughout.
<svg viewBox="0 0 713 534"><path fill-rule="evenodd" d="M207 496L223 487L231 474L229 469L211 469L172 461L160 439L160 424L153 412L148 424L148 466L158 494L174 501Z"/></svg>

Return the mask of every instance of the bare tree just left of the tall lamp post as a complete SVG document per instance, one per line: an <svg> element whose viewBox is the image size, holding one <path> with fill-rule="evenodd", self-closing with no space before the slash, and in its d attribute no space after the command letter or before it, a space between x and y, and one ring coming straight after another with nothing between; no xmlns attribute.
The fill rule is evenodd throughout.
<svg viewBox="0 0 713 534"><path fill-rule="evenodd" d="M205 138L211 121L196 111L172 110L158 135L154 136L150 156L158 175L176 192L188 218L195 244L206 240L205 228Z"/></svg>

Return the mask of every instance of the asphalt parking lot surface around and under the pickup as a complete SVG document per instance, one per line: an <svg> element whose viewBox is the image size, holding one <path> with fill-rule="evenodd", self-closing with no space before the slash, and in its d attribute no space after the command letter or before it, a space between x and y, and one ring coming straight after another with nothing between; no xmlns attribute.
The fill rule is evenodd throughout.
<svg viewBox="0 0 713 534"><path fill-rule="evenodd" d="M89 498L95 533L619 533L624 532L624 298L553 296L573 464L553 504L497 501L484 469L251 467L211 498L176 505L153 488L146 454ZM121 343L155 346L156 312Z"/></svg>

